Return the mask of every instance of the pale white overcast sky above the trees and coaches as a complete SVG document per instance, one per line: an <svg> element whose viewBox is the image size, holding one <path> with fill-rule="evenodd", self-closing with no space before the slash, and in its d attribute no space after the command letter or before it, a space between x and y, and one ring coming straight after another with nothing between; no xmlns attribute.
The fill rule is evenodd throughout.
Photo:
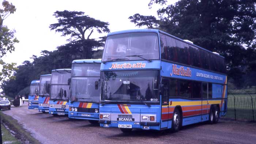
<svg viewBox="0 0 256 144"><path fill-rule="evenodd" d="M55 11L82 11L86 15L109 23L111 32L138 29L128 19L135 13L157 16L160 5L148 8L150 0L8 0L16 7L16 12L4 20L4 25L15 29L20 41L15 44L15 52L8 53L3 60L21 65L32 55L40 55L42 50L53 51L57 46L67 43L68 37L50 31L49 25L57 23ZM177 0L169 0L175 3ZM2 1L1 1L2 3ZM2 6L1 6L2 8ZM94 32L91 38L105 36Z"/></svg>

